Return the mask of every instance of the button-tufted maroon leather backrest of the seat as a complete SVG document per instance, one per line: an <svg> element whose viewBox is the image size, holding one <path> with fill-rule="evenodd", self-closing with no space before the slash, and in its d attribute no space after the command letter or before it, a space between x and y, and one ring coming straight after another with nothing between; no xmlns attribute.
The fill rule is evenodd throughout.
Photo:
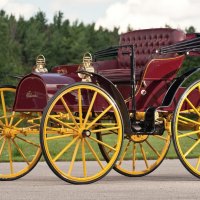
<svg viewBox="0 0 200 200"><path fill-rule="evenodd" d="M136 30L120 36L119 45L133 44L135 50L136 79L139 79L146 64L155 56L155 52L162 46L174 44L186 39L181 30L171 28L156 28ZM125 49L120 50L121 52ZM118 54L119 68L130 68L129 55ZM156 58L174 57L174 55L156 55Z"/></svg>

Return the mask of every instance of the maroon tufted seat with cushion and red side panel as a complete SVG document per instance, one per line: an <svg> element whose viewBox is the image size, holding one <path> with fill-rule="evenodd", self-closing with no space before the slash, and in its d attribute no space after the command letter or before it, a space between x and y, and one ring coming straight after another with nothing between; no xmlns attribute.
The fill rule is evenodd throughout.
<svg viewBox="0 0 200 200"><path fill-rule="evenodd" d="M136 109L145 111L148 107L158 107L177 75L185 56L174 54L159 55L156 50L186 39L181 30L170 28L137 30L122 34L119 45L134 45L135 77L136 77ZM116 59L96 61L93 63L95 72L112 81L121 92L124 99L131 94L131 64L130 55L124 54L128 48L121 48ZM53 69L54 72L70 72L77 65L62 65ZM179 89L172 105L166 109L174 110L177 98L183 92ZM131 101L127 103L129 111Z"/></svg>

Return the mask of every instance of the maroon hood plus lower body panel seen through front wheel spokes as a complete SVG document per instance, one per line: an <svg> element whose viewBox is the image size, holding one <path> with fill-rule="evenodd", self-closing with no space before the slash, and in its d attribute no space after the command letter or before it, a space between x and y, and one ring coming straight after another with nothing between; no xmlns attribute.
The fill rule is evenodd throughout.
<svg viewBox="0 0 200 200"><path fill-rule="evenodd" d="M77 70L75 67L74 70ZM17 87L17 94L14 103L14 110L19 112L42 112L47 102L62 87L80 82L75 71L70 74L58 73L32 73L25 76ZM66 103L70 106L71 111L78 111L76 93L69 93L64 96ZM83 112L87 111L93 94L82 92ZM102 112L107 107L107 103L99 96L95 102L94 109L96 112ZM63 104L58 101L55 111L63 111Z"/></svg>

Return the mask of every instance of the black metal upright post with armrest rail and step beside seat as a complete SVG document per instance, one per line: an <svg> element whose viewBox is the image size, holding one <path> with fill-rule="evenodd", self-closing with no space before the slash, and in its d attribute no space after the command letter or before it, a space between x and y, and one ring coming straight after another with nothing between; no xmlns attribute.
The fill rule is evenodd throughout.
<svg viewBox="0 0 200 200"><path fill-rule="evenodd" d="M93 54L93 58L96 61L97 58L105 58L110 56L117 56L120 48L129 48L130 51L122 51L122 55L130 56L130 65L131 65L131 74L130 74L130 84L131 84L131 99L132 99L132 117L129 119L129 123L131 127L129 128L129 123L126 124L125 129L127 135L135 135L135 134L143 134L143 135L161 135L164 131L163 124L156 125L155 124L155 112L157 108L149 107L145 112L144 121L136 120L136 100L135 100L135 57L134 57L134 45L120 45L109 47L104 50L97 51ZM124 104L125 105L125 104ZM128 119L126 119L128 120Z"/></svg>

